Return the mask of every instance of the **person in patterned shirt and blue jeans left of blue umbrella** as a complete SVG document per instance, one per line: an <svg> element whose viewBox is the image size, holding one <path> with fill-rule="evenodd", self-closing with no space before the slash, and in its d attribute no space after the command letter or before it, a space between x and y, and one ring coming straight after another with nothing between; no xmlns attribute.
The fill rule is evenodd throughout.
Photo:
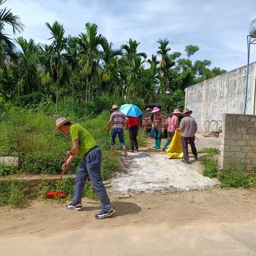
<svg viewBox="0 0 256 256"><path fill-rule="evenodd" d="M107 124L107 131L109 131L110 124L113 123L111 128L111 150L114 150L116 144L116 135L118 135L120 146L124 149L124 157L127 156L127 148L124 142L124 125L129 122L129 119L119 111L117 105L113 105L110 109L113 113Z"/></svg>

